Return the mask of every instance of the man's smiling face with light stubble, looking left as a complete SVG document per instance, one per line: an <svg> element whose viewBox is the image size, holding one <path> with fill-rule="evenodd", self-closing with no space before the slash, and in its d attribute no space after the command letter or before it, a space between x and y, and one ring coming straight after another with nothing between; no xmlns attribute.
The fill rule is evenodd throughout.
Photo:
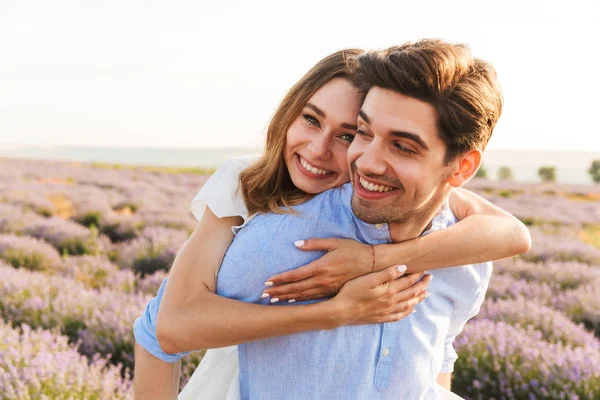
<svg viewBox="0 0 600 400"><path fill-rule="evenodd" d="M374 87L358 116L348 149L354 187L352 210L367 223L404 222L428 216L448 193L454 163L428 103Z"/></svg>

